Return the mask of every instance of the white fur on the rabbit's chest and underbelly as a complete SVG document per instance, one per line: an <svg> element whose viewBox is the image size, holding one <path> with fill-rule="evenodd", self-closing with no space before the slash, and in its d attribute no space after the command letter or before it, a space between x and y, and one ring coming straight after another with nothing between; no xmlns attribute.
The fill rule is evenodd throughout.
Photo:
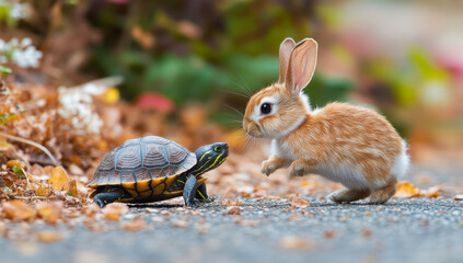
<svg viewBox="0 0 463 263"><path fill-rule="evenodd" d="M310 146L300 146L310 147ZM311 157L299 157L294 155L292 149L282 140L274 139L271 141L271 153L280 157L285 160L289 160L291 163L297 159L310 160ZM362 169L358 164L350 164L346 162L333 161L333 162L320 162L312 171L308 173L315 173L322 175L331 181L342 183L348 188L380 188L387 184L385 180L377 180L375 182L369 182L362 174Z"/></svg>

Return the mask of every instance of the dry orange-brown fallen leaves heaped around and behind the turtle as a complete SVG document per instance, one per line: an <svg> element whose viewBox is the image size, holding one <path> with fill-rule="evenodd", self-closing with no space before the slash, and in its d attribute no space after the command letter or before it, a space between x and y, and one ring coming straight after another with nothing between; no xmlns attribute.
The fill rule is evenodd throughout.
<svg viewBox="0 0 463 263"><path fill-rule="evenodd" d="M107 81L106 81L107 82ZM108 81L112 82L112 81ZM113 80L114 82L114 80ZM117 81L116 81L117 82ZM325 195L340 188L320 176L289 180L285 171L267 178L261 174L261 162L269 151L267 145L246 148L245 135L207 123L207 110L188 106L172 110L149 107L152 98L139 103L119 101L117 89L104 82L51 89L42 85L0 83L0 236L11 239L30 237L54 242L66 238L59 226L73 229L82 224L91 230L117 228L136 231L149 228L140 216L128 213L126 204L111 204L101 209L88 197L86 182L104 156L126 139L146 135L163 136L194 151L212 141L227 141L231 153L218 169L207 173L208 192L219 196L215 204L227 206L223 216L233 216L241 226L254 227L257 220L242 219L246 209L242 199L280 201L291 210L310 207L301 196ZM162 98L155 98L165 100ZM147 102L148 101L148 102ZM164 101L169 102L169 101ZM423 191L408 182L398 185L396 197L439 197L435 186ZM322 197L323 198L323 197ZM165 201L182 205L182 198ZM172 210L146 208L152 221L172 218ZM194 210L195 215L200 210ZM127 217L128 220L121 220ZM292 217L298 220L298 217ZM291 218L290 218L291 220ZM48 225L50 230L35 232L31 224ZM18 225L16 228L10 228ZM188 228L187 220L172 222L174 228ZM202 227L199 228L200 232ZM327 233L333 237L333 233ZM287 249L308 249L312 244L288 237Z"/></svg>

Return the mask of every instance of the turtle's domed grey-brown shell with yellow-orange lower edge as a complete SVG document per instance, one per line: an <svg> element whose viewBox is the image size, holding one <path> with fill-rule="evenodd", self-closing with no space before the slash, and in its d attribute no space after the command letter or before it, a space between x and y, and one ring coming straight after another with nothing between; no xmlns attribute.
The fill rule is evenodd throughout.
<svg viewBox="0 0 463 263"><path fill-rule="evenodd" d="M172 140L158 136L129 139L103 159L86 186L97 193L102 186L120 185L132 196L123 202L155 201L158 195L174 194L167 193L169 186L195 164L195 153Z"/></svg>

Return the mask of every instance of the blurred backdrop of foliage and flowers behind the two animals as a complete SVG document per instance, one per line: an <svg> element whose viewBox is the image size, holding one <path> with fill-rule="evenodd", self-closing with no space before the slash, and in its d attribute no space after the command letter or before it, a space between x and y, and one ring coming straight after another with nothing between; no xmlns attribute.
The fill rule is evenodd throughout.
<svg viewBox="0 0 463 263"><path fill-rule="evenodd" d="M21 87L18 100L39 93L44 105L62 104L61 126L74 114L84 121L69 130L113 138L99 140L102 151L143 134L188 148L224 138L243 150L246 93L277 81L283 38L313 37L319 67L305 89L313 106L374 107L409 141L415 162L455 164L463 148L462 8L458 0L0 0L0 64L5 82ZM92 82L106 77L124 81ZM89 110L97 117L66 110L84 103L74 96L85 92L105 105ZM62 99L67 93L76 100ZM21 127L9 117L16 112L3 107L2 122ZM35 140L85 167L69 147L54 150L59 142L49 130L57 128L46 130Z"/></svg>

